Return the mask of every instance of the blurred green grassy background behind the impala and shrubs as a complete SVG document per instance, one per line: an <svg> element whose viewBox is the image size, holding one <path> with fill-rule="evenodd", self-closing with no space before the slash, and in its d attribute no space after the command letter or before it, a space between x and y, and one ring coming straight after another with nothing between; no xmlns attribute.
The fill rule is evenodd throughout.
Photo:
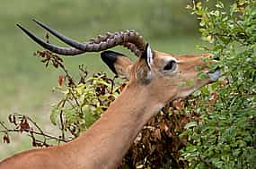
<svg viewBox="0 0 256 169"><path fill-rule="evenodd" d="M62 72L45 69L33 52L41 49L26 37L15 24L21 23L44 38L45 31L31 19L49 24L59 32L86 41L106 31L134 29L150 42L154 49L172 54L199 53L201 44L195 16L190 15L186 0L0 0L0 121L7 115L29 114L50 133L50 105L57 97L51 92ZM62 45L56 38L51 43ZM122 47L113 50L131 53ZM84 63L89 72L105 71L100 53L65 57L66 67L73 73ZM109 71L107 71L110 73ZM110 73L110 76L113 76ZM1 129L0 129L1 130ZM2 136L1 136L2 137ZM31 141L14 134L12 143L0 143L0 160L23 149L31 148Z"/></svg>

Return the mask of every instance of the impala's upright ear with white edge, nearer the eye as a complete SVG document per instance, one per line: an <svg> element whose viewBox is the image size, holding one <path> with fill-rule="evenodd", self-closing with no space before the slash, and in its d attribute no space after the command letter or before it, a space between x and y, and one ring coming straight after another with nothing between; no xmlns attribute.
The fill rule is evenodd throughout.
<svg viewBox="0 0 256 169"><path fill-rule="evenodd" d="M147 43L144 53L139 58L139 66L137 68L137 81L140 84L147 85L151 82L153 59L154 55Z"/></svg>

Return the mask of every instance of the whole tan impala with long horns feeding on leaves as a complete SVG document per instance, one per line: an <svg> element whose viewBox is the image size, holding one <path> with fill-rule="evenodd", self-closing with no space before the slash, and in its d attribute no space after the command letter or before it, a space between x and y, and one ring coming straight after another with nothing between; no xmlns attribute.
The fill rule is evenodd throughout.
<svg viewBox="0 0 256 169"><path fill-rule="evenodd" d="M209 54L172 55L153 51L134 30L107 33L88 43L80 43L40 21L35 22L70 47L46 43L21 25L17 26L40 46L59 55L103 51L103 62L119 77L127 78L128 85L102 117L77 139L60 146L32 149L11 156L0 163L1 169L116 168L137 133L167 102L187 97L219 77L217 69L210 72L202 61ZM128 47L137 55L137 62L133 63L125 55L105 51L119 45ZM197 66L204 67L202 71L207 73L206 79L198 78ZM179 85L187 80L193 81L194 85Z"/></svg>

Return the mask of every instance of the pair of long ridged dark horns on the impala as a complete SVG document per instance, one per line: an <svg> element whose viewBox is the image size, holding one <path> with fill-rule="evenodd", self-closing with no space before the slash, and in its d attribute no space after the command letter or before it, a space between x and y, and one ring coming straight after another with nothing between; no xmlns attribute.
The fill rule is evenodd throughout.
<svg viewBox="0 0 256 169"><path fill-rule="evenodd" d="M42 43L42 40L40 40L39 38L35 38L35 36L33 36L28 30L25 30L20 25L18 25L27 35L29 35L29 37L31 37L34 41L39 43L40 46L44 46L45 48L51 50L52 52L57 51L57 50L53 51L52 48L57 49L56 47L58 47L58 49L72 51L72 52L75 52L75 55L78 55L84 52L99 52L99 51L103 51L108 48L111 48L113 46L121 45L121 46L128 47L128 49L131 50L131 52L133 52L137 56L140 56L146 46L142 36L139 36L139 34L134 30L126 30L124 32L122 31L115 32L114 34L107 33L105 36L98 36L98 38L91 39L89 43L81 43L71 38L67 38L66 36L58 33L57 30L52 30L51 28L49 28L49 26L41 23L40 21L36 21L36 20L33 20L33 21L35 21L38 25L40 25L45 30L48 30L51 34L53 34L54 36L56 36L57 38L59 38L69 46L75 47L75 48L58 47L58 46L52 47L53 45L50 45L51 47L49 47L48 43L45 43L45 42ZM76 49L76 51L74 49Z"/></svg>

